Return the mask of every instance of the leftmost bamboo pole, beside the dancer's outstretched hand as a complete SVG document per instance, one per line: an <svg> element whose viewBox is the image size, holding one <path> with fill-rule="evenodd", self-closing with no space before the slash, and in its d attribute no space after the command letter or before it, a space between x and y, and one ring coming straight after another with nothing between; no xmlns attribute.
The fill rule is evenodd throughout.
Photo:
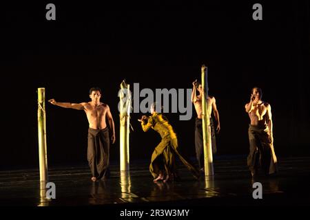
<svg viewBox="0 0 310 220"><path fill-rule="evenodd" d="M40 188L48 182L48 152L46 150L45 88L38 88L38 136Z"/></svg>

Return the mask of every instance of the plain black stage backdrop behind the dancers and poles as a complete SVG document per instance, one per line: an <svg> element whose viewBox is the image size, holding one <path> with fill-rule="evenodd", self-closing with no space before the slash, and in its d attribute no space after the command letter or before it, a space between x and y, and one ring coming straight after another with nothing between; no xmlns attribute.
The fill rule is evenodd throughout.
<svg viewBox="0 0 310 220"><path fill-rule="evenodd" d="M90 87L101 87L116 124L111 160L118 163L121 80L141 89L192 88L203 63L220 112L218 155L248 153L244 105L254 86L272 107L276 154L310 155L309 1L54 2L56 21L45 19L47 3L1 7L0 169L39 164L38 87L45 87L47 99L64 102L87 101ZM254 3L262 3L262 21L252 19ZM85 113L46 107L49 165L87 164ZM189 121L167 116L183 153L194 157L195 114ZM140 117L132 114L131 159L149 159L160 140L154 131L141 131Z"/></svg>

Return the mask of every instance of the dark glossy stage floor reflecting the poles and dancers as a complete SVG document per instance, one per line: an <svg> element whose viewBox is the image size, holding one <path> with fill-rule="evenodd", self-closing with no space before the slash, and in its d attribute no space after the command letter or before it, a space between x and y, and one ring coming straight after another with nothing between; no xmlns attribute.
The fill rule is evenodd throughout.
<svg viewBox="0 0 310 220"><path fill-rule="evenodd" d="M0 172L0 206L309 206L310 157L279 158L274 177L249 175L245 157L218 157L214 179L195 180L178 166L181 181L154 184L148 161L131 162L130 175L112 164L110 179L90 181L87 166L49 168L56 199L40 197L39 170ZM262 199L253 198L254 182L262 184Z"/></svg>

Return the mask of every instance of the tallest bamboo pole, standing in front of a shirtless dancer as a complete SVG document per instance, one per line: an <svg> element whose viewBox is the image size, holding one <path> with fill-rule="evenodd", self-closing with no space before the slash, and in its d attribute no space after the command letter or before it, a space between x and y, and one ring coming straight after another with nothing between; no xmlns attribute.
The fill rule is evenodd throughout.
<svg viewBox="0 0 310 220"><path fill-rule="evenodd" d="M208 108L208 69L203 65L201 67L201 84L203 87L203 153L205 161L205 176L213 176L213 156L211 148L211 126L210 126L210 114Z"/></svg>

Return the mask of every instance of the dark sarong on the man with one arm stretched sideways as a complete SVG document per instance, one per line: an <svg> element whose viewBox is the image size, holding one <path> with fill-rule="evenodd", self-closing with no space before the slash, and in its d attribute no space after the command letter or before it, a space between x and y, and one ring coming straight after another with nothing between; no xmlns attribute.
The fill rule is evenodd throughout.
<svg viewBox="0 0 310 220"><path fill-rule="evenodd" d="M87 160L92 176L97 179L108 177L110 157L110 138L105 129L88 129Z"/></svg>

